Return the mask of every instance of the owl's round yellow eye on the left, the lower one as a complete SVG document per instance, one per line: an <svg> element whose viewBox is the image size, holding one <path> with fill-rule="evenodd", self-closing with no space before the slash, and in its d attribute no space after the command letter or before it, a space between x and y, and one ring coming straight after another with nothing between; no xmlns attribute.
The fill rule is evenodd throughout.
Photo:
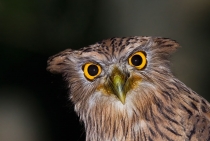
<svg viewBox="0 0 210 141"><path fill-rule="evenodd" d="M94 63L86 63L83 66L83 71L87 79L93 80L101 73L101 66Z"/></svg>

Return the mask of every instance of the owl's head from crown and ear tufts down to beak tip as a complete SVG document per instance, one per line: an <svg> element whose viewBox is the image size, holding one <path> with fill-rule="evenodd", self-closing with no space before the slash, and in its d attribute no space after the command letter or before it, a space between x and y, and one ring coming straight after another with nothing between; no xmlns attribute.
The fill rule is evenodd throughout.
<svg viewBox="0 0 210 141"><path fill-rule="evenodd" d="M148 97L147 91L158 85L155 80L167 81L165 76L171 75L168 56L177 47L175 41L164 38L111 38L63 51L49 59L48 69L65 75L76 107L85 103L125 105L135 95Z"/></svg>

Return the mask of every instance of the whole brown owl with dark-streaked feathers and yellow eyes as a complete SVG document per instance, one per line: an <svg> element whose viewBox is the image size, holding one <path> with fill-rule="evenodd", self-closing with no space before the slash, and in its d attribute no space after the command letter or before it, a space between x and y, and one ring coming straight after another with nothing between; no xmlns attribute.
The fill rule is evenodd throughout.
<svg viewBox="0 0 210 141"><path fill-rule="evenodd" d="M210 104L176 79L158 37L111 38L48 60L68 82L87 141L209 141Z"/></svg>

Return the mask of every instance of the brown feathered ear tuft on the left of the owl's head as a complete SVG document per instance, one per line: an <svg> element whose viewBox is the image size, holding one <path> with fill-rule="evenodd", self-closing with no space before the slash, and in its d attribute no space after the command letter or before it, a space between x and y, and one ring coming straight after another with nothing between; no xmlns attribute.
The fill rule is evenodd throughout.
<svg viewBox="0 0 210 141"><path fill-rule="evenodd" d="M72 49L66 49L54 56L49 57L47 61L47 71L51 73L64 73L68 69L68 56L72 54Z"/></svg>

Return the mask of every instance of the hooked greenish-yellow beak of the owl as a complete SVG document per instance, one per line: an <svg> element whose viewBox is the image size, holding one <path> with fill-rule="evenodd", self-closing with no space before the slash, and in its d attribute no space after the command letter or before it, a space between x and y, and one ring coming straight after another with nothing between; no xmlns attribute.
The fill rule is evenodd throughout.
<svg viewBox="0 0 210 141"><path fill-rule="evenodd" d="M115 68L110 76L110 85L113 93L119 98L122 104L125 104L126 92L124 89L126 75Z"/></svg>

